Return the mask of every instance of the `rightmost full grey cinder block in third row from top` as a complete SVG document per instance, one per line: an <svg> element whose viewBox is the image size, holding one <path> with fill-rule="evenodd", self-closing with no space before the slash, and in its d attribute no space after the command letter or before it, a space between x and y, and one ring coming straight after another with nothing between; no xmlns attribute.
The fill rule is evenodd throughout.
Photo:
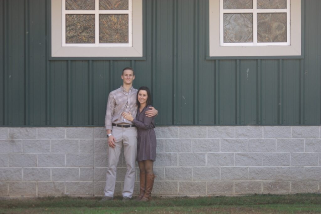
<svg viewBox="0 0 321 214"><path fill-rule="evenodd" d="M291 153L291 166L318 166L318 153Z"/></svg>

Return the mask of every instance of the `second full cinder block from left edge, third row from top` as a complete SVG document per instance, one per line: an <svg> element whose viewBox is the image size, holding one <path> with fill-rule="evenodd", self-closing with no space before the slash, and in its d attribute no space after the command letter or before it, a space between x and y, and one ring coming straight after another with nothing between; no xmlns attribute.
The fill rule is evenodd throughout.
<svg viewBox="0 0 321 214"><path fill-rule="evenodd" d="M38 167L64 167L65 154L38 154Z"/></svg>

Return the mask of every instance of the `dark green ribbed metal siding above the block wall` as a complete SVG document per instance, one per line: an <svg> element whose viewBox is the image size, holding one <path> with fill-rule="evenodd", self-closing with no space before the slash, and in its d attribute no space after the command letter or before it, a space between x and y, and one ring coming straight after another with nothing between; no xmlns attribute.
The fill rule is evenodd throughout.
<svg viewBox="0 0 321 214"><path fill-rule="evenodd" d="M0 126L103 125L132 66L160 125L320 124L321 2L303 59L206 60L207 0L145 0L146 60L48 60L50 0L0 0Z"/></svg>

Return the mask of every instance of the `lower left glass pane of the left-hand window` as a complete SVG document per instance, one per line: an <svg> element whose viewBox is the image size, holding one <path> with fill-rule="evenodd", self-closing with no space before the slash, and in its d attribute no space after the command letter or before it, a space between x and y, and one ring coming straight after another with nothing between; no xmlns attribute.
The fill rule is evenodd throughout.
<svg viewBox="0 0 321 214"><path fill-rule="evenodd" d="M95 43L95 15L66 14L66 43Z"/></svg>

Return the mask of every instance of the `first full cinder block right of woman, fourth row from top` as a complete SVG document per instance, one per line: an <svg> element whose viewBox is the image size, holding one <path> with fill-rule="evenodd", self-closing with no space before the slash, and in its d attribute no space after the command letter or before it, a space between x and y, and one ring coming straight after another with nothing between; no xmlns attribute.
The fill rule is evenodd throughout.
<svg viewBox="0 0 321 214"><path fill-rule="evenodd" d="M166 167L165 180L167 181L191 181L192 168L190 167Z"/></svg>

